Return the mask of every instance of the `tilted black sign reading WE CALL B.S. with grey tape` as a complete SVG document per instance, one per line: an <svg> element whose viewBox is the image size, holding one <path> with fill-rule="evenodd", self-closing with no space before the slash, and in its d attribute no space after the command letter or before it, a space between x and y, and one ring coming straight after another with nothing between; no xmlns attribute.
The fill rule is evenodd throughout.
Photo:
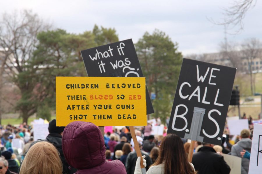
<svg viewBox="0 0 262 174"><path fill-rule="evenodd" d="M167 133L221 144L236 68L183 59Z"/></svg>

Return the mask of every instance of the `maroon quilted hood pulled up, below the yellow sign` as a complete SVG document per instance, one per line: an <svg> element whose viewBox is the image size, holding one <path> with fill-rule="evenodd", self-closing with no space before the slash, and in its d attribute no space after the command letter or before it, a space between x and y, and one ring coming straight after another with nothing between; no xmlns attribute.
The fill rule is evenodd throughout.
<svg viewBox="0 0 262 174"><path fill-rule="evenodd" d="M100 129L90 122L72 122L63 132L66 161L77 169L93 168L105 162L105 141Z"/></svg>

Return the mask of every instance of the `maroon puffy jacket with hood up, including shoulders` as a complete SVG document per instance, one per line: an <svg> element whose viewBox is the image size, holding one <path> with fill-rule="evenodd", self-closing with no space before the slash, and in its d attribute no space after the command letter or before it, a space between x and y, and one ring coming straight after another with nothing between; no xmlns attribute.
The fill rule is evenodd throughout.
<svg viewBox="0 0 262 174"><path fill-rule="evenodd" d="M65 127L62 137L63 153L76 174L126 174L119 160L105 160L105 141L100 129L90 122L72 122Z"/></svg>

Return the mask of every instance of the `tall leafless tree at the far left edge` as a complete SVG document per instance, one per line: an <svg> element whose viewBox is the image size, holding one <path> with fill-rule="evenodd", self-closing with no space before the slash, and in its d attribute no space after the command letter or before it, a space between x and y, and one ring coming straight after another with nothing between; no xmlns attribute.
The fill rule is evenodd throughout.
<svg viewBox="0 0 262 174"><path fill-rule="evenodd" d="M0 19L0 49L3 50L0 77L6 71L20 89L22 99L32 91L32 85L28 78L24 77L21 80L20 77L28 70L28 62L37 44L38 32L47 30L49 27L37 14L28 10L15 11L13 14L4 13ZM33 102L30 104L21 102L17 109L21 112L23 122L27 122L28 117L36 112Z"/></svg>

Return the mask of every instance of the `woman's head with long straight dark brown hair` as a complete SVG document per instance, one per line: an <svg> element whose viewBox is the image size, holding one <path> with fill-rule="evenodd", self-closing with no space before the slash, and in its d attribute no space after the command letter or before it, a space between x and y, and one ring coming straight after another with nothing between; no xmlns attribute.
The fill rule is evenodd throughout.
<svg viewBox="0 0 262 174"><path fill-rule="evenodd" d="M169 134L163 138L160 144L159 157L153 165L163 162L165 174L195 173L187 160L182 140L175 134Z"/></svg>

